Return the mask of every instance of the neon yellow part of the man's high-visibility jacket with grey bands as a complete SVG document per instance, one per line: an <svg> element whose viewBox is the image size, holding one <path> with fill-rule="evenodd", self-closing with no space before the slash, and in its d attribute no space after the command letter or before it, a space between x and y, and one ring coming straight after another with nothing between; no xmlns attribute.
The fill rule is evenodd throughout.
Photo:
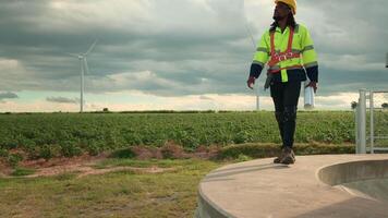
<svg viewBox="0 0 388 218"><path fill-rule="evenodd" d="M312 68L317 65L313 40L306 27L298 24L295 29L279 27L269 29L262 36L253 60L264 68L268 64L270 73L281 73L281 81L288 82L287 70Z"/></svg>

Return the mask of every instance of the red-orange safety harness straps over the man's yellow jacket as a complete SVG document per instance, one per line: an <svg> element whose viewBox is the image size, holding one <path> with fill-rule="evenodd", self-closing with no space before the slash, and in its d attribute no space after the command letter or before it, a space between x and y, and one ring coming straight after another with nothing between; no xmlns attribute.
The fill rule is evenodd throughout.
<svg viewBox="0 0 388 218"><path fill-rule="evenodd" d="M269 72L270 73L277 73L277 72L281 71L281 70L303 68L302 65L296 64L296 65L290 65L290 66L287 66L287 68L276 68L276 69L274 69L274 66L276 64L278 64L279 62L281 62L281 61L290 60L290 59L293 59L293 58L301 58L301 53L300 52L293 52L292 51L293 34L294 34L294 29L290 27L290 36L289 36L289 43L288 43L287 50L284 52L276 52L275 51L275 32L270 33L270 60L268 62Z"/></svg>

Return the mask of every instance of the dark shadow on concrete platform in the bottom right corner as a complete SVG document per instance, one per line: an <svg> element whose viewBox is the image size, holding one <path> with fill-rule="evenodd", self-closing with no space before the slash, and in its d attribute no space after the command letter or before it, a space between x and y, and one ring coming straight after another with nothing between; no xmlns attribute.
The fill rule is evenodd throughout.
<svg viewBox="0 0 388 218"><path fill-rule="evenodd" d="M307 206L307 205L306 205ZM373 208L373 213L369 213ZM293 218L383 218L388 217L387 204L381 203L380 207L376 207L375 201L365 201L365 198L354 197L344 202L336 203L327 207L313 209L308 213L294 216Z"/></svg>

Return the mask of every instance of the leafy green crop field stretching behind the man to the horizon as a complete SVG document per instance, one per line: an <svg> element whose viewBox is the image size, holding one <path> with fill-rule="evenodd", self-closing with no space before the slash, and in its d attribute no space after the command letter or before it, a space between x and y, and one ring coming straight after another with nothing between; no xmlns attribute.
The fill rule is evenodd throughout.
<svg viewBox="0 0 388 218"><path fill-rule="evenodd" d="M385 114L388 117L388 114ZM298 143L354 143L351 111L299 112ZM198 146L280 143L272 112L33 113L0 114L0 156L11 149L28 158L97 155L134 145L174 142Z"/></svg>

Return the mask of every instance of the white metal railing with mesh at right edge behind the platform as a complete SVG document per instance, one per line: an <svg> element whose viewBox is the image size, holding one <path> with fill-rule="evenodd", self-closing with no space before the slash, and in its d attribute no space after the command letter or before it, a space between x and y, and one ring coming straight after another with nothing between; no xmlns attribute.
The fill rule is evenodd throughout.
<svg viewBox="0 0 388 218"><path fill-rule="evenodd" d="M388 145L388 108L386 108L386 104L388 104L388 90L360 90L355 110L355 150L357 154L388 152L388 146L386 146ZM378 145L376 145L377 141L380 141Z"/></svg>

